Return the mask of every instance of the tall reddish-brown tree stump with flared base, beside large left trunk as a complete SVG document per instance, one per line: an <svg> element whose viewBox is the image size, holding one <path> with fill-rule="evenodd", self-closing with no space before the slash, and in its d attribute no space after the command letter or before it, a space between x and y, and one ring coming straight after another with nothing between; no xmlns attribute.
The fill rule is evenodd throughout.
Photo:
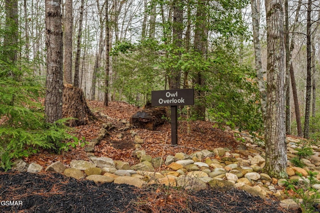
<svg viewBox="0 0 320 213"><path fill-rule="evenodd" d="M91 112L86 104L84 94L81 88L64 84L63 102L62 102L63 117L73 117L67 122L69 126L84 125L89 120L94 120L96 117Z"/></svg>

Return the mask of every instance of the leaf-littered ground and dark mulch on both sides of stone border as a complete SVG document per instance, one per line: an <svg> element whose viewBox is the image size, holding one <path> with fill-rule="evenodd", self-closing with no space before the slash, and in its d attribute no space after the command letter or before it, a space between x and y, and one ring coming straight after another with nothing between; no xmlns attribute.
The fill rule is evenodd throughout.
<svg viewBox="0 0 320 213"><path fill-rule="evenodd" d="M131 156L135 147L130 129L123 130L123 126L139 108L124 102L111 102L105 107L102 102L88 101L88 105L98 120L75 127L73 133L89 141L99 133L102 123L111 122L114 128L95 146L94 155L127 161L131 165L137 163L138 159ZM131 130L144 139L140 149L152 157L176 152L190 154L216 147L234 149L238 145L233 135L212 125L207 121L193 121L191 133L187 134L185 121L179 121L178 146L174 147L170 145L168 122L153 131ZM118 137L120 133L121 138ZM72 159L87 160L88 156L83 148L76 147L62 154L42 151L24 158L43 167L57 160L69 164ZM4 200L18 200L23 204L1 204L2 212L299 212L281 208L275 197L262 199L237 189L189 192L165 186L135 188L126 184L77 181L44 171L37 174L0 171L0 201Z"/></svg>

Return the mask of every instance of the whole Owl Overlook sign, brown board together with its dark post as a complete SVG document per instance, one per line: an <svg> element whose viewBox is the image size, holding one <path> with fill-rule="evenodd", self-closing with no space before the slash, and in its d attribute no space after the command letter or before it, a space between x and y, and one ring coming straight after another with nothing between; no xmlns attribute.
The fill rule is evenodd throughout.
<svg viewBox="0 0 320 213"><path fill-rule="evenodd" d="M171 109L171 144L177 145L178 125L177 125L177 106L193 105L194 89L171 89L151 91L152 106L170 106Z"/></svg>

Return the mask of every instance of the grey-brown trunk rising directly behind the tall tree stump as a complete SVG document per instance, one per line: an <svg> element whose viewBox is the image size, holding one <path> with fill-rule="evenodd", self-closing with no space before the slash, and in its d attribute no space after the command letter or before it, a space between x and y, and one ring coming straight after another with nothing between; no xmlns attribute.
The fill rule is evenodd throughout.
<svg viewBox="0 0 320 213"><path fill-rule="evenodd" d="M64 10L64 82L72 84L72 0L65 0Z"/></svg>

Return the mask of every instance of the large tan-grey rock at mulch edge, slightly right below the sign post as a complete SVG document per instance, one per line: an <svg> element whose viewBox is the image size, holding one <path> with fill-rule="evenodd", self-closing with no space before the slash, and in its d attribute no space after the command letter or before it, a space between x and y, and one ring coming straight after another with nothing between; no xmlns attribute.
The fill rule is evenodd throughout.
<svg viewBox="0 0 320 213"><path fill-rule="evenodd" d="M180 175L176 179L176 185L184 188L185 190L202 190L206 188L206 183L199 178L187 176L185 174Z"/></svg>

